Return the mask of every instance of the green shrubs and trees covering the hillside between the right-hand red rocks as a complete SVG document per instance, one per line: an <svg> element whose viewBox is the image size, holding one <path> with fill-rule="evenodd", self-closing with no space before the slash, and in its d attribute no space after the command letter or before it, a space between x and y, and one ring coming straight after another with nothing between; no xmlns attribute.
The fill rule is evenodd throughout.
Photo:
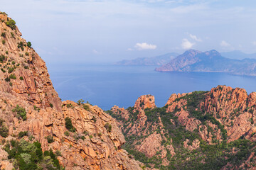
<svg viewBox="0 0 256 170"><path fill-rule="evenodd" d="M123 148L135 159L143 162L148 167L154 166L154 168L158 169L221 169L223 166L228 166L230 169L239 169L239 167L241 169L247 169L248 165L244 164L244 162L250 157L252 152L256 152L256 142L251 142L240 137L239 140L227 143L228 136L224 126L216 120L213 114L207 113L203 108L199 107L199 104L205 99L206 93L208 91L194 91L192 94L177 98L175 102L182 99L186 100L186 106L183 106L183 109L188 111L190 118L196 118L201 121L201 125L206 125L208 132L211 132L213 135L212 144L208 144L208 142L202 139L199 134L201 130L199 125L192 132L186 130L181 125L176 116L176 113L181 110L177 107L173 112L169 113L166 112L168 106L145 109L144 112L147 119L142 131L147 128L146 135L131 135L129 133L132 126L138 123L137 115L139 113L138 111L134 111L134 108L127 108L127 111L129 111L129 120L124 120L119 113L107 112L123 123L121 127L127 140ZM161 118L163 128L159 126L159 117ZM216 125L218 128L217 131L220 131L221 140L215 140L215 132L208 125L209 123ZM157 128L152 128L152 125L156 125ZM153 132L157 132L164 139L161 141L162 146L173 145L174 147L174 155L170 153L169 149L166 149L166 159L169 162L167 166L163 165L164 159L161 157L160 152L157 152L153 157L146 157L144 153L136 149L136 146L141 145L144 139ZM186 140L189 140L188 145L192 145L193 141L198 140L200 141L200 147L189 150L183 145ZM250 159L249 162L249 166L256 166L254 159Z"/></svg>

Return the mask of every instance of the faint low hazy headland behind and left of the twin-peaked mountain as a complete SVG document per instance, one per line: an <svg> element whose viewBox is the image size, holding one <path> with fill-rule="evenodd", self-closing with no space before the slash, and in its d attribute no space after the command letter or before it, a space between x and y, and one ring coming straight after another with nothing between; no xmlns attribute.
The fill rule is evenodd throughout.
<svg viewBox="0 0 256 170"><path fill-rule="evenodd" d="M134 60L122 60L120 62L116 62L114 64L117 65L147 65L147 66L161 66L163 64L167 64L179 54L176 52L167 53L165 55L159 55L156 57L143 57L136 58Z"/></svg>

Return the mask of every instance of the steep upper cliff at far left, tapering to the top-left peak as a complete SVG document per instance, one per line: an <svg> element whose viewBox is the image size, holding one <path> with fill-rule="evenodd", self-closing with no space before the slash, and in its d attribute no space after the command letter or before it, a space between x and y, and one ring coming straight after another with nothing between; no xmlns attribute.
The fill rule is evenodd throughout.
<svg viewBox="0 0 256 170"><path fill-rule="evenodd" d="M26 40L21 38L18 28L12 30L6 26L7 19L11 18L1 14L0 33L3 36L0 37L0 91L40 108L53 105L61 111L61 101L53 89L46 63L33 48L28 47ZM12 79L11 75L16 79Z"/></svg>

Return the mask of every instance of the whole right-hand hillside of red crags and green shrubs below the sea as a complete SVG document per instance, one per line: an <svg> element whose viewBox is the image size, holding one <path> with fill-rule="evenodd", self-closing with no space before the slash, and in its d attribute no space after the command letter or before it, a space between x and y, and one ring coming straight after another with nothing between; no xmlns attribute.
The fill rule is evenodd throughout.
<svg viewBox="0 0 256 170"><path fill-rule="evenodd" d="M124 148L156 169L256 169L256 93L218 86L172 94L163 108L154 96L108 111L119 122Z"/></svg>

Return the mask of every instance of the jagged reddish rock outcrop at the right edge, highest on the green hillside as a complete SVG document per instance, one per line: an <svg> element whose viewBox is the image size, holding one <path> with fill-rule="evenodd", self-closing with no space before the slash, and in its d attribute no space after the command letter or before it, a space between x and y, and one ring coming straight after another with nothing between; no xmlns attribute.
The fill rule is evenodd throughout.
<svg viewBox="0 0 256 170"><path fill-rule="evenodd" d="M254 128L255 101L255 92L248 96L245 89L218 86L206 95L201 109L213 114L224 125L228 142L231 142Z"/></svg>

